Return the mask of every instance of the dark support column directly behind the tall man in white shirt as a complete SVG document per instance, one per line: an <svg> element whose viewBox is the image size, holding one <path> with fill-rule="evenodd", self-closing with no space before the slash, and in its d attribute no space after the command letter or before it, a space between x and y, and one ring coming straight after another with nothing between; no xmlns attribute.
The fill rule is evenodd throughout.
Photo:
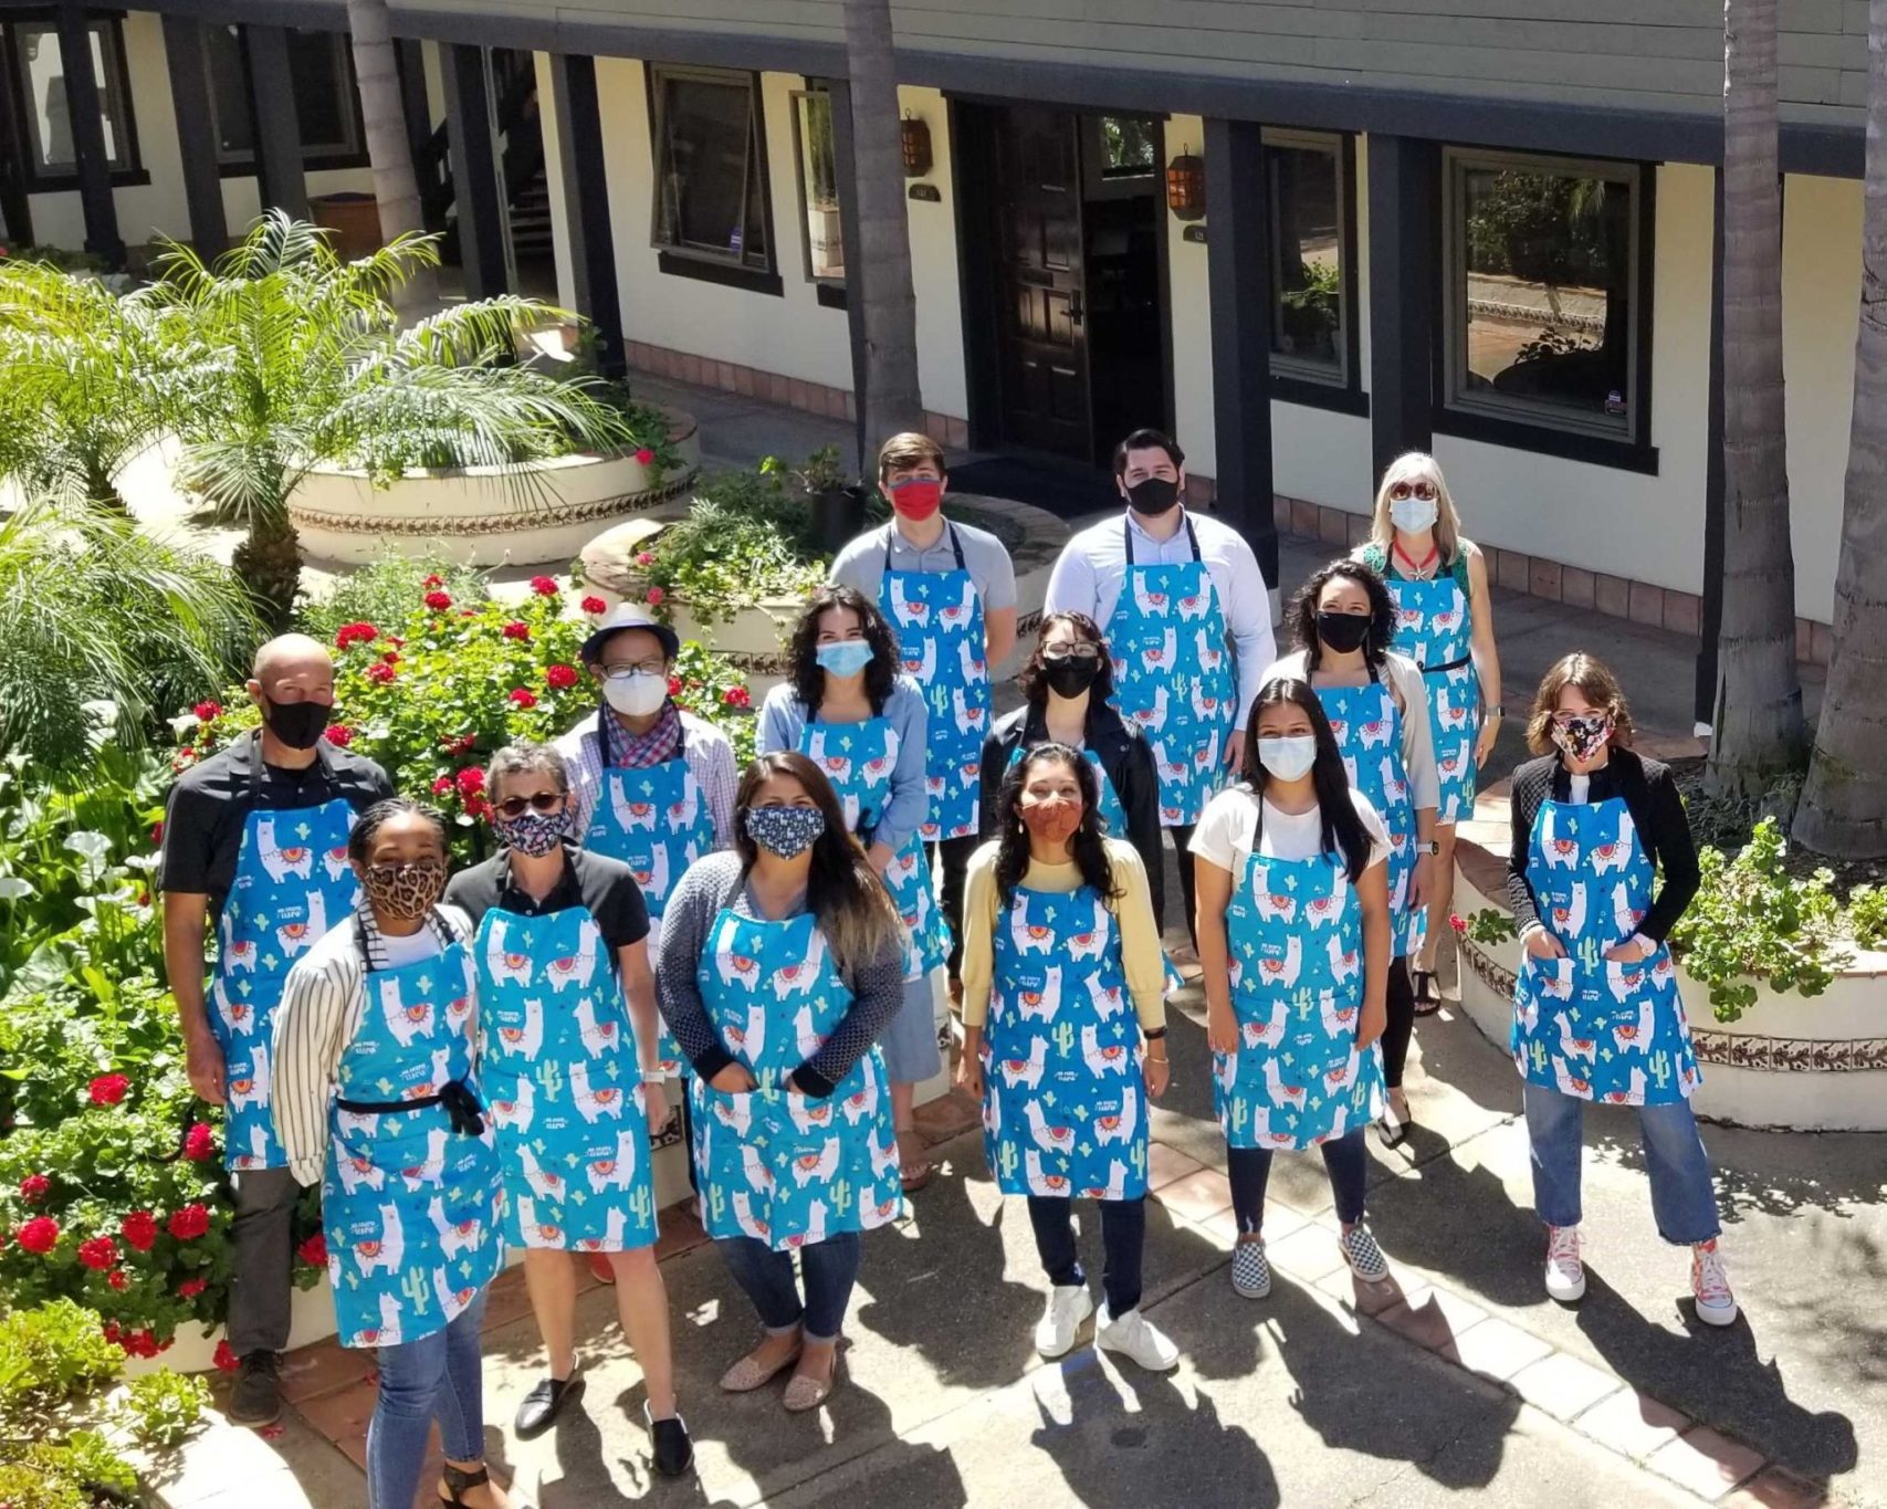
<svg viewBox="0 0 1887 1509"><path fill-rule="evenodd" d="M1257 121L1206 121L1206 268L1211 285L1211 415L1219 517L1277 594L1272 506L1272 251ZM1276 609L1276 602L1274 602ZM1272 613L1276 619L1276 611Z"/></svg>

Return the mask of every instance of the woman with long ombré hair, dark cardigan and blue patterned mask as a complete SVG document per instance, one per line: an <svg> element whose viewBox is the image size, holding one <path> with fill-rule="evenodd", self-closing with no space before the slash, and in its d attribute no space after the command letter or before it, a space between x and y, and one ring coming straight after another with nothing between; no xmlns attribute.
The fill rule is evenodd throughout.
<svg viewBox="0 0 1887 1509"><path fill-rule="evenodd" d="M904 1005L910 941L804 754L755 758L734 821L734 853L670 898L657 998L694 1066L704 1224L766 1328L721 1388L793 1368L785 1407L802 1413L836 1383L859 1234L904 1209L877 1039Z"/></svg>

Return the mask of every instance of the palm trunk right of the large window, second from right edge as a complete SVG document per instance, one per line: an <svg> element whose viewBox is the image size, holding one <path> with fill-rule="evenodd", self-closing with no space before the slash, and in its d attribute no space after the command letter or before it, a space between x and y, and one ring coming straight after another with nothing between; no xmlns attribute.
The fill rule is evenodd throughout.
<svg viewBox="0 0 1887 1509"><path fill-rule="evenodd" d="M1723 6L1723 632L1710 785L1761 794L1800 758L1781 377L1776 0Z"/></svg>

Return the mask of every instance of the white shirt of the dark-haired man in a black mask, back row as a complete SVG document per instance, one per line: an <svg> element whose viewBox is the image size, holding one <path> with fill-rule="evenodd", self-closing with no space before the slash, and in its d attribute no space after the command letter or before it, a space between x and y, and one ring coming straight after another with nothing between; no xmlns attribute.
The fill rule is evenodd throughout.
<svg viewBox="0 0 1887 1509"><path fill-rule="evenodd" d="M1047 602L1044 613L1087 613L1100 632L1108 632L1108 619L1121 600L1127 585L1127 536L1121 530L1121 517L1106 519L1081 530L1062 549L1055 570L1049 573ZM1211 575L1211 587L1219 594L1219 611L1225 626L1238 649L1238 728L1245 726L1245 713L1251 700L1264 685L1264 668L1277 655L1277 639L1272 636L1272 594L1264 585L1264 572L1251 553L1245 538L1217 519L1204 513L1181 509L1179 528L1172 539L1155 539L1134 519L1132 509L1125 513L1127 528L1134 536L1136 566L1170 566L1193 558L1193 541L1187 538L1187 524L1198 534L1198 558Z"/></svg>

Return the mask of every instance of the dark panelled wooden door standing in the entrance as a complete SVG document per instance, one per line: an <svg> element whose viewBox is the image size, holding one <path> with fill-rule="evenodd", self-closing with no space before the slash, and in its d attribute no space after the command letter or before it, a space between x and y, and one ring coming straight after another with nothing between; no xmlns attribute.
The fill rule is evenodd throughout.
<svg viewBox="0 0 1887 1509"><path fill-rule="evenodd" d="M1076 117L1011 106L994 141L996 345L1006 445L1093 460Z"/></svg>

